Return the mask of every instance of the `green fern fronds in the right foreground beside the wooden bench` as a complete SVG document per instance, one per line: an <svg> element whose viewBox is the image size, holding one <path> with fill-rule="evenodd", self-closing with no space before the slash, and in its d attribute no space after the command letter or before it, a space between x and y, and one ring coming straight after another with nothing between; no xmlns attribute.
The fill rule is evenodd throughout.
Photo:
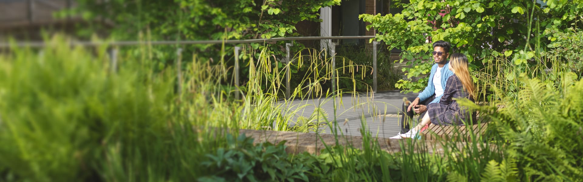
<svg viewBox="0 0 583 182"><path fill-rule="evenodd" d="M576 78L565 74L571 76L564 78ZM494 105L503 104L503 108L477 108L491 118L489 128L496 129L497 139L508 142L505 156L516 159L519 171L524 171L519 178L580 180L575 176L583 174L583 81L563 79L561 85L546 85L523 75L519 85L517 97L503 96L494 88L502 96Z"/></svg>

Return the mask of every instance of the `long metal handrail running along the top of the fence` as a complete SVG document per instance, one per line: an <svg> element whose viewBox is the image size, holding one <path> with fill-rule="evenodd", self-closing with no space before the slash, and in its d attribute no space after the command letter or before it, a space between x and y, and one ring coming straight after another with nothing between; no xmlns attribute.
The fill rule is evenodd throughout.
<svg viewBox="0 0 583 182"><path fill-rule="evenodd" d="M286 40L338 40L338 39L363 39L363 38L374 38L375 36L328 36L328 37L278 37L278 38L258 38L258 39L247 39L247 40L163 40L163 41L73 41L69 44L71 46L100 46L107 44L109 46L135 46L139 44L151 44L151 45L186 45L186 44L244 44L244 43L262 43L271 41L286 41ZM36 42L19 42L16 43L16 47L44 47L47 43L36 41ZM0 48L10 48L10 43L0 43Z"/></svg>

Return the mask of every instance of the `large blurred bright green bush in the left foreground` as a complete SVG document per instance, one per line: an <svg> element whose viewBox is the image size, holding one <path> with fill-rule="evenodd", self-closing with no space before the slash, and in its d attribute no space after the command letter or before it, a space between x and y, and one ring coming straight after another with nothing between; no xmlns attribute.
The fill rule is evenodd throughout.
<svg viewBox="0 0 583 182"><path fill-rule="evenodd" d="M174 153L162 142L172 138L171 129L160 122L173 113L168 75L143 79L148 72L125 68L111 74L104 47L93 57L63 38L47 44L43 53L16 48L0 55L0 75L10 78L0 81L3 175L23 181L122 179L131 175L126 164L164 166L147 162L154 153Z"/></svg>

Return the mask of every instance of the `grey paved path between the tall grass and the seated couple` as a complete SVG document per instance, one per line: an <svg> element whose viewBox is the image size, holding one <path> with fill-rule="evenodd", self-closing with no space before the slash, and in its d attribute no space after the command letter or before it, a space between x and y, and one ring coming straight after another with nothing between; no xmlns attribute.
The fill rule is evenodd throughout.
<svg viewBox="0 0 583 182"><path fill-rule="evenodd" d="M296 122L291 123L290 127L310 124L318 126L318 132L331 134L332 128L337 128L339 134L360 136L360 128L365 125L364 128L373 136L388 138L400 131L400 116L397 114L401 111L403 97L417 95L419 94L402 94L399 90L391 90L359 96L294 100L282 104L285 104L287 112L294 113L291 121Z"/></svg>

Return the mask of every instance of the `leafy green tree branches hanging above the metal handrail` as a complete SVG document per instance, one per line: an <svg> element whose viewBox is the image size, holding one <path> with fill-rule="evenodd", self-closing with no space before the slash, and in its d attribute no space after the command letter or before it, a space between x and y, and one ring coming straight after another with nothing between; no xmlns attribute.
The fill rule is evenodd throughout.
<svg viewBox="0 0 583 182"><path fill-rule="evenodd" d="M103 26L95 23L84 27L83 32L104 32L117 40L138 40L145 35L147 40L238 40L299 36L298 22L319 22L321 7L339 4L339 0L81 0L76 9L62 12L61 16L72 14L83 15L87 20L104 19ZM283 41L252 43L250 49L260 51L267 47L271 54L281 56L284 46ZM303 45L294 43L294 47L300 49ZM233 53L232 47L215 44L188 46L185 52L219 60L222 57L217 56L223 56L219 51L223 48L226 48L223 53ZM258 57L259 53L250 55Z"/></svg>

